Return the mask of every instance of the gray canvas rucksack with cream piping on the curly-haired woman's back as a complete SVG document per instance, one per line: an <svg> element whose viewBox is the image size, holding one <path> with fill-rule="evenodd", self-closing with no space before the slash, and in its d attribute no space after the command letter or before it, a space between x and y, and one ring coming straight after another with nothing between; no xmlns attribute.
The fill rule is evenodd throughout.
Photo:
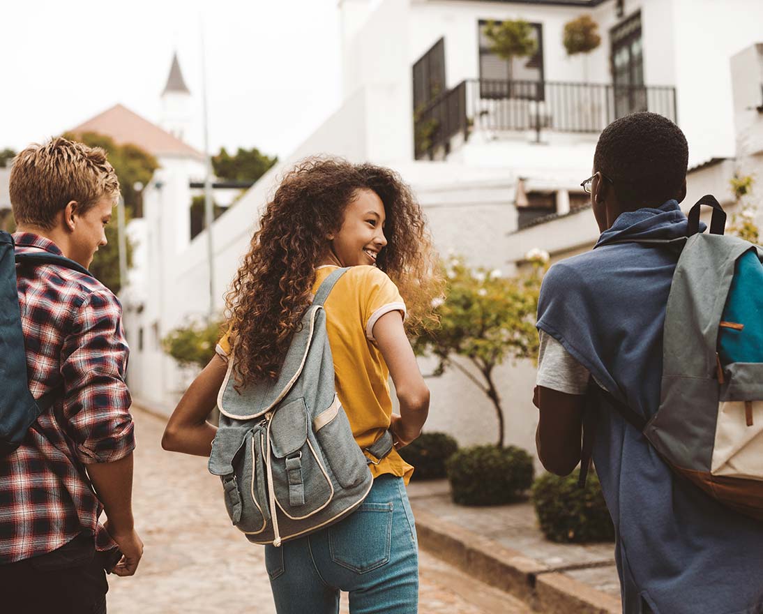
<svg viewBox="0 0 763 614"><path fill-rule="evenodd" d="M210 473L246 538L281 545L338 522L369 494L368 465L392 450L389 431L364 454L334 389L324 302L346 272L321 283L294 334L277 380L234 388L233 357L217 406Z"/></svg>

